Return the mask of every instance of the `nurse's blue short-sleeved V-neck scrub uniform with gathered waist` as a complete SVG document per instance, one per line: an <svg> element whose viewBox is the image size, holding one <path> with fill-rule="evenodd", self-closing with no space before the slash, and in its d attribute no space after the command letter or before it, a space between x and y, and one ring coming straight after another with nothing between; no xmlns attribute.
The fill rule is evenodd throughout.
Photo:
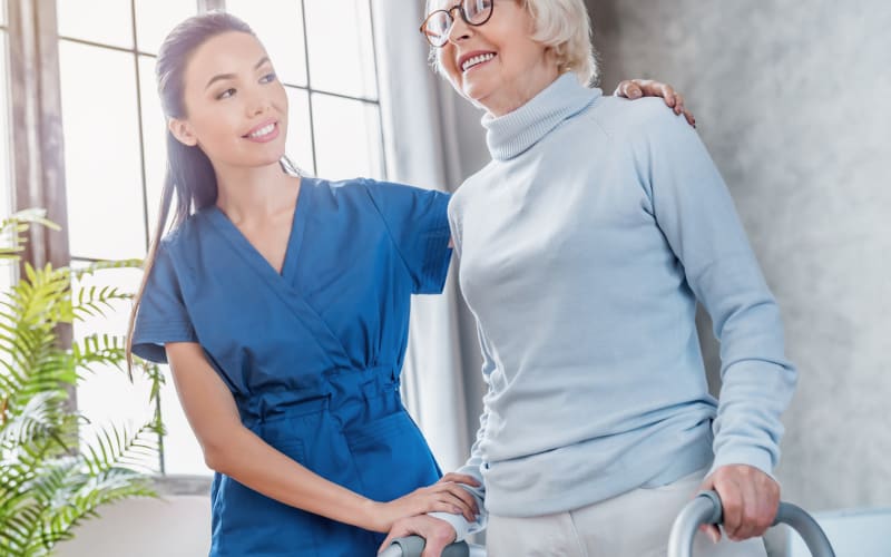
<svg viewBox="0 0 891 557"><path fill-rule="evenodd" d="M411 294L439 293L449 196L302 178L278 274L215 206L160 244L134 352L197 342L243 423L310 470L378 501L441 476L399 374ZM217 473L212 556L372 556L383 535L270 499Z"/></svg>

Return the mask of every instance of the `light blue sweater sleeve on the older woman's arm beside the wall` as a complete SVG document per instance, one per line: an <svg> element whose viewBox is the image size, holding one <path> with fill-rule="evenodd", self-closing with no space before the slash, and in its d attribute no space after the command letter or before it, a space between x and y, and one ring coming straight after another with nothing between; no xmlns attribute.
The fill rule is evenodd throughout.
<svg viewBox="0 0 891 557"><path fill-rule="evenodd" d="M721 342L712 469L744 463L772 475L783 433L780 417L796 383L784 355L780 311L698 135L683 118L657 108L633 130L631 143L650 211Z"/></svg>

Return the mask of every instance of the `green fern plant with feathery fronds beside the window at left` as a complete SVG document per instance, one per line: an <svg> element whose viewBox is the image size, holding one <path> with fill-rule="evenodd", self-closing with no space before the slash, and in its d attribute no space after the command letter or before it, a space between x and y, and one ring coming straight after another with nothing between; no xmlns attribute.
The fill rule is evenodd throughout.
<svg viewBox="0 0 891 557"><path fill-rule="evenodd" d="M14 260L33 224L55 227L30 209L0 222L0 258ZM74 527L98 516L106 504L156 497L140 468L157 458L161 434L157 367L143 369L151 382L153 419L135 430L108 426L85 443L86 419L70 393L87 373L125 371L120 336L92 335L60 348L60 328L101 316L130 297L115 287L72 287L87 274L138 266L138 261L102 262L86 268L33 268L0 293L0 555L51 555L74 537Z"/></svg>

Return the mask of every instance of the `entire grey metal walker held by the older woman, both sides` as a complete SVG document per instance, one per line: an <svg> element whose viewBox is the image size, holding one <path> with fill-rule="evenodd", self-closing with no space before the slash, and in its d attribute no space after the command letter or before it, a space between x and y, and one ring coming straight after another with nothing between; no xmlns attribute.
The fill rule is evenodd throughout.
<svg viewBox="0 0 891 557"><path fill-rule="evenodd" d="M688 502L675 519L668 538L668 557L693 557L693 536L704 524L721 524L721 498L715 491L703 491ZM804 540L813 557L835 557L829 538L811 515L790 502L781 502L773 525L784 522L794 528ZM418 536L399 538L379 557L420 557L424 540ZM486 550L464 541L452 544L442 551L442 557L486 557Z"/></svg>

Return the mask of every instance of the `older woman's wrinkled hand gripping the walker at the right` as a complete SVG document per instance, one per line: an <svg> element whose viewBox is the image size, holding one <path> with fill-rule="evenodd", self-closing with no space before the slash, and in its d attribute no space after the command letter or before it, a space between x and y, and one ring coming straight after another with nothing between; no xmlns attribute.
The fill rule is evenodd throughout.
<svg viewBox="0 0 891 557"><path fill-rule="evenodd" d="M722 466L703 480L699 490L715 490L724 507L724 532L734 541L761 536L771 527L780 506L780 485L757 468L746 465ZM721 530L702 526L712 541Z"/></svg>

